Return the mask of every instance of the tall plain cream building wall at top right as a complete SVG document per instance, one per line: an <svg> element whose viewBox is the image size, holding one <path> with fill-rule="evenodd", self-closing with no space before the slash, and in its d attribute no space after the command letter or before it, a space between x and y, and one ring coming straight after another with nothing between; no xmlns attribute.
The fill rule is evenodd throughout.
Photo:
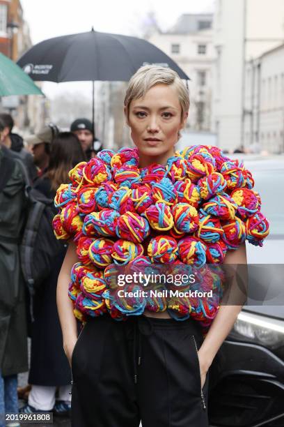
<svg viewBox="0 0 284 427"><path fill-rule="evenodd" d="M246 61L254 61L283 41L283 0L216 0L212 130L217 133L217 144L222 149L233 150L242 145L247 148L261 138L261 132L255 133L256 119L251 123L250 118L251 109L257 107L260 98L255 91L253 95L248 93L256 80L251 86L246 82L250 78ZM248 103L251 96L253 106ZM258 119L261 122L262 114ZM251 133L248 136L248 126L253 126L253 139ZM259 130L260 126L258 123Z"/></svg>

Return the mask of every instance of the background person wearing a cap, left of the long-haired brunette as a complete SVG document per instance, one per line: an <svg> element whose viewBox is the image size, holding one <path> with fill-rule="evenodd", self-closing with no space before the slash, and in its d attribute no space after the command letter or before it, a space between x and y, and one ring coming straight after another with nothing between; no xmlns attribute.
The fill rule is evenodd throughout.
<svg viewBox="0 0 284 427"><path fill-rule="evenodd" d="M45 173L49 165L50 144L58 133L56 126L44 126L35 135L26 138L26 143L31 147L33 163L38 167L38 176Z"/></svg>

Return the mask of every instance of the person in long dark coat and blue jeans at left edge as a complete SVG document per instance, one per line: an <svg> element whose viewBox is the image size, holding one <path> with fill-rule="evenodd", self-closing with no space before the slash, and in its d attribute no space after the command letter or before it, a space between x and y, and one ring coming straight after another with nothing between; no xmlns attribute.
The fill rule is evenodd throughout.
<svg viewBox="0 0 284 427"><path fill-rule="evenodd" d="M6 123L0 118L0 137ZM26 215L24 166L0 144L0 427L3 414L18 412L17 374L29 369L26 294L19 260L19 240Z"/></svg>

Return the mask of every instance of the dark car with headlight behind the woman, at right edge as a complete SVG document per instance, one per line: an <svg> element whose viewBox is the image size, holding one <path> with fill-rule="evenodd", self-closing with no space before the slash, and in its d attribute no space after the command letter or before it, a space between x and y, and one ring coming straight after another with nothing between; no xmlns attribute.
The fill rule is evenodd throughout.
<svg viewBox="0 0 284 427"><path fill-rule="evenodd" d="M284 278L284 158L246 159L262 197L271 232L262 248L246 245L248 263L270 264ZM277 264L277 265L276 265ZM210 373L212 427L284 426L284 301L275 292L267 305L244 306L216 355ZM272 305L274 304L274 305Z"/></svg>

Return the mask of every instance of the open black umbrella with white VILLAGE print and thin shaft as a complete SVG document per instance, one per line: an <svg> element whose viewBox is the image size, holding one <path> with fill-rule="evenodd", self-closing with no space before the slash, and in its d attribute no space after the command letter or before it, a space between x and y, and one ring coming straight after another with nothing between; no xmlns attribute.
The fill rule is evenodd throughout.
<svg viewBox="0 0 284 427"><path fill-rule="evenodd" d="M138 68L153 63L172 68L182 79L189 80L168 55L148 41L93 29L44 40L17 63L36 81L93 81L93 125L95 80L127 82Z"/></svg>

